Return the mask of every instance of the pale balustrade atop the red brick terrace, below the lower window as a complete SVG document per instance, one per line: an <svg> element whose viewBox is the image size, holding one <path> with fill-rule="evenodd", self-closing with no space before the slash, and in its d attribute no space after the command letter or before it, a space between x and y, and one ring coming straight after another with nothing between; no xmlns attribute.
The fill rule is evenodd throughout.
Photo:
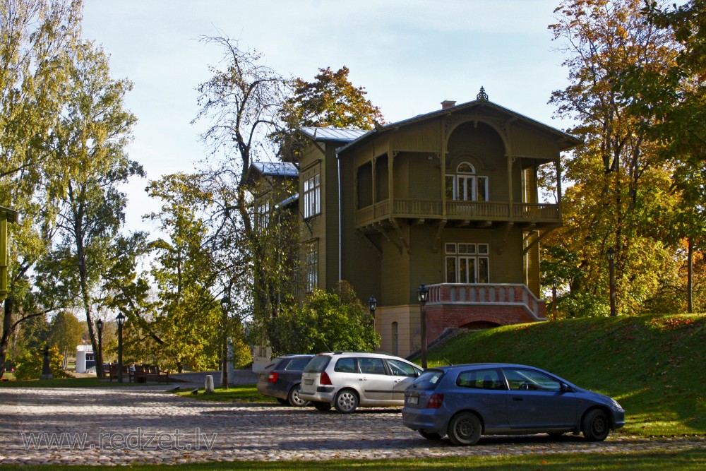
<svg viewBox="0 0 706 471"><path fill-rule="evenodd" d="M544 321L539 303L527 285L490 283L441 283L429 285L427 304L522 306L537 321Z"/></svg>

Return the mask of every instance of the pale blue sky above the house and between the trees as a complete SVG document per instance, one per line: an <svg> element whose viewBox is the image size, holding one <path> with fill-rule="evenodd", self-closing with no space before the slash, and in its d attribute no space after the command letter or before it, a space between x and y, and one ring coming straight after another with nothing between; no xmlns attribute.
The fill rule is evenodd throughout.
<svg viewBox="0 0 706 471"><path fill-rule="evenodd" d="M563 129L547 104L566 87L564 56L547 26L560 0L85 0L84 37L102 44L116 78L134 83L126 106L138 117L131 159L148 179L191 172L198 142L196 86L222 49L199 42L227 35L263 53L283 76L312 81L318 68L350 69L385 121L489 100ZM128 229L157 210L145 179L126 186Z"/></svg>

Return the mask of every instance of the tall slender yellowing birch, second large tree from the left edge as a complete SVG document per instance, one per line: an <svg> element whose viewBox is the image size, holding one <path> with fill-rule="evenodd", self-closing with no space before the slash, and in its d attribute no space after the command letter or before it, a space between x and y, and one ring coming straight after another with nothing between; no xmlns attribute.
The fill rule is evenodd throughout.
<svg viewBox="0 0 706 471"><path fill-rule="evenodd" d="M119 185L143 176L142 167L126 155L136 118L123 107L132 85L110 76L107 56L90 42L80 44L71 66L71 97L48 140L68 164L66 193L58 216L59 242L52 263L42 269L61 279L67 302L85 311L93 351L97 352L94 313L102 304L97 287L114 263L112 249L124 224L127 203ZM47 292L52 287L47 286ZM54 290L54 292L56 292ZM78 299L73 299L77 294ZM97 369L98 374L102 373Z"/></svg>

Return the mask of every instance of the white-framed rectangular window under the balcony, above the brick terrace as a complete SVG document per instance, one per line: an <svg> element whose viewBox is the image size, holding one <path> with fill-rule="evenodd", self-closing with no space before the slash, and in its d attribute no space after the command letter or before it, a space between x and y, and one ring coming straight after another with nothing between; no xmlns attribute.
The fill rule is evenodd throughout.
<svg viewBox="0 0 706 471"><path fill-rule="evenodd" d="M447 242L444 246L447 283L490 282L488 244Z"/></svg>

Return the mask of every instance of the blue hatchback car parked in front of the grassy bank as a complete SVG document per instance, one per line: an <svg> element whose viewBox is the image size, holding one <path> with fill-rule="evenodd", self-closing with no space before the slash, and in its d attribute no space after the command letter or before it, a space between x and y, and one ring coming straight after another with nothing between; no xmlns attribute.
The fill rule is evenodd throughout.
<svg viewBox="0 0 706 471"><path fill-rule="evenodd" d="M521 364L462 364L427 369L405 390L402 421L426 439L448 435L473 445L481 435L583 433L603 441L625 425L608 396Z"/></svg>

